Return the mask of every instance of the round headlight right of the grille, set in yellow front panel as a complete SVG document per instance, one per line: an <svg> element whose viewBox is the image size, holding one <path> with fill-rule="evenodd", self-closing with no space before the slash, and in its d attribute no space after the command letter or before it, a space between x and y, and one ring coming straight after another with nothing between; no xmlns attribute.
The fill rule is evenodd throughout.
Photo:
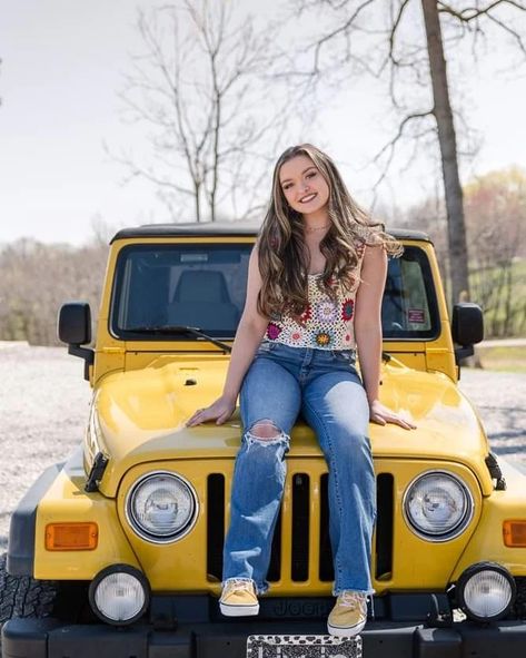
<svg viewBox="0 0 526 658"><path fill-rule="evenodd" d="M453 473L431 471L414 480L404 497L405 517L416 532L431 541L458 537L473 517L469 489Z"/></svg>

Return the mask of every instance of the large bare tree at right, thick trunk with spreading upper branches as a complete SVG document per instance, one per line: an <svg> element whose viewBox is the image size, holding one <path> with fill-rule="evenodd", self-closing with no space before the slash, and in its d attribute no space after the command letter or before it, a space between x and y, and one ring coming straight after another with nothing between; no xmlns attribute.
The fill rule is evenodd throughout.
<svg viewBox="0 0 526 658"><path fill-rule="evenodd" d="M375 156L384 163L384 179L400 140L410 137L415 149L438 139L447 212L451 299L469 296L468 258L464 206L458 174L459 148L455 124L462 117L451 109L446 50L453 51L470 35L474 58L489 27L504 30L526 56L524 27L514 22L526 11L516 0L304 0L299 11L331 12L333 27L312 46L314 66L308 76L320 76L338 65L355 73L386 76L399 122L393 139ZM386 8L388 11L386 12ZM417 16L418 9L420 16ZM443 20L440 20L440 17ZM418 30L424 24L424 33ZM444 27L444 29L443 29ZM424 36L424 39L423 39ZM329 49L328 46L333 48ZM363 47L365 45L365 48ZM327 55L329 53L329 55ZM450 57L454 57L450 55ZM429 94L430 88L430 94ZM410 91L409 91L410 90Z"/></svg>

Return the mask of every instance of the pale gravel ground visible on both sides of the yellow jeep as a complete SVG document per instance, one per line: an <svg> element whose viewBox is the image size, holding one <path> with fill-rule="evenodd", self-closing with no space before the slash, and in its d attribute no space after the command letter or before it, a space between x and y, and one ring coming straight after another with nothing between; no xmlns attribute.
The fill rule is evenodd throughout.
<svg viewBox="0 0 526 658"><path fill-rule="evenodd" d="M0 550L9 515L41 471L81 441L91 390L63 347L0 342ZM464 369L495 452L526 472L526 375Z"/></svg>

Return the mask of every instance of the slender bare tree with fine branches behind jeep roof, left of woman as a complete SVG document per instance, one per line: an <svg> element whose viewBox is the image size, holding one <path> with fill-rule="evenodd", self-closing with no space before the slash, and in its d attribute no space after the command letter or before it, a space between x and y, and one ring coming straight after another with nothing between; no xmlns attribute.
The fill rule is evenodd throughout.
<svg viewBox="0 0 526 658"><path fill-rule="evenodd" d="M254 214L282 138L287 95L271 75L277 28L258 31L239 7L178 0L139 13L145 53L133 59L121 98L150 127L151 158L118 159L130 177L156 186L173 219L189 203L197 222Z"/></svg>

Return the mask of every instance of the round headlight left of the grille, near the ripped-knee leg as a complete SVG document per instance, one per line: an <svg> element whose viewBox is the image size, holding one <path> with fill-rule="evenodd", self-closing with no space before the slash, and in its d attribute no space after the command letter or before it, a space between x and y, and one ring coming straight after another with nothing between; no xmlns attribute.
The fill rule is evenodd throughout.
<svg viewBox="0 0 526 658"><path fill-rule="evenodd" d="M180 475L149 473L130 490L126 509L137 534L165 543L189 532L197 518L197 495Z"/></svg>

